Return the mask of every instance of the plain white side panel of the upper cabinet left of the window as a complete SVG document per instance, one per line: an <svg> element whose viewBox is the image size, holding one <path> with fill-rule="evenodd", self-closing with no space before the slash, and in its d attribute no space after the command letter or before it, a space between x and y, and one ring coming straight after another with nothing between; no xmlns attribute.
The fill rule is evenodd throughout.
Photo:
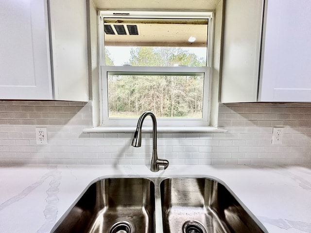
<svg viewBox="0 0 311 233"><path fill-rule="evenodd" d="M88 101L86 0L50 0L55 100Z"/></svg>

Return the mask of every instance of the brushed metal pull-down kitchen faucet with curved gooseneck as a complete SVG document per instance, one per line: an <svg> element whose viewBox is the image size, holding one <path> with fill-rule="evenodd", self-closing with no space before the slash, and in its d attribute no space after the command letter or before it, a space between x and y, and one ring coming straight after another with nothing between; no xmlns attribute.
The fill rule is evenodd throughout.
<svg viewBox="0 0 311 233"><path fill-rule="evenodd" d="M158 171L159 166L164 166L166 169L169 166L169 161L166 159L158 159L156 152L156 118L152 112L144 112L138 119L137 128L133 137L132 146L133 147L141 147L141 127L146 116L151 116L152 118L152 139L153 139L153 147L152 147L152 158L151 158L151 171Z"/></svg>

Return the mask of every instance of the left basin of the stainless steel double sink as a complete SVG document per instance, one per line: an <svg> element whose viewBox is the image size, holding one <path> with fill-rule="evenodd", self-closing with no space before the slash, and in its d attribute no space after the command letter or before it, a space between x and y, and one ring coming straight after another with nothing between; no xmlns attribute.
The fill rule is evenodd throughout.
<svg viewBox="0 0 311 233"><path fill-rule="evenodd" d="M54 233L154 233L155 184L111 178L91 184L52 229Z"/></svg>

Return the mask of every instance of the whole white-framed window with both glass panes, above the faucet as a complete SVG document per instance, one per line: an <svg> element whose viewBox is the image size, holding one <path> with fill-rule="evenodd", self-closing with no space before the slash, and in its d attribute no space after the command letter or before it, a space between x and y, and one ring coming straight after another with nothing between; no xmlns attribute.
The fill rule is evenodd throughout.
<svg viewBox="0 0 311 233"><path fill-rule="evenodd" d="M208 126L212 13L100 12L102 126ZM147 123L148 124L148 123Z"/></svg>

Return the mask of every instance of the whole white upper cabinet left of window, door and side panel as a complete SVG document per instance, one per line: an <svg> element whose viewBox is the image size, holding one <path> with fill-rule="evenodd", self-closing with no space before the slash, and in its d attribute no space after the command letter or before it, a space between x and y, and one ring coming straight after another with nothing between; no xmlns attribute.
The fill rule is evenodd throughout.
<svg viewBox="0 0 311 233"><path fill-rule="evenodd" d="M0 100L88 101L85 0L0 0L0 28Z"/></svg>

